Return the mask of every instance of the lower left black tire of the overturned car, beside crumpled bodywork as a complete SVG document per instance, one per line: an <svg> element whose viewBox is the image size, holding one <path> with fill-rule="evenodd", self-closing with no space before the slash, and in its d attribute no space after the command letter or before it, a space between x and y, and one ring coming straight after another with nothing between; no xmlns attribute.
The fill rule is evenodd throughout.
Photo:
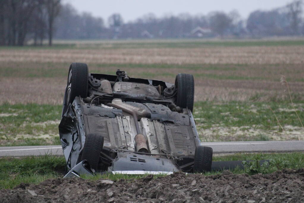
<svg viewBox="0 0 304 203"><path fill-rule="evenodd" d="M81 160L87 160L92 169L97 170L100 152L103 147L103 136L90 133L85 136L85 145L82 150Z"/></svg>

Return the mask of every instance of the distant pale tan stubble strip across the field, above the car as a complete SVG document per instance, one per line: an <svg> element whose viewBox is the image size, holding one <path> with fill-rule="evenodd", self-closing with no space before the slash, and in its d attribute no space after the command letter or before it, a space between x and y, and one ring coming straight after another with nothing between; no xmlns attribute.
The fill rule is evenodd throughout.
<svg viewBox="0 0 304 203"><path fill-rule="evenodd" d="M0 50L1 62L302 64L304 46Z"/></svg>

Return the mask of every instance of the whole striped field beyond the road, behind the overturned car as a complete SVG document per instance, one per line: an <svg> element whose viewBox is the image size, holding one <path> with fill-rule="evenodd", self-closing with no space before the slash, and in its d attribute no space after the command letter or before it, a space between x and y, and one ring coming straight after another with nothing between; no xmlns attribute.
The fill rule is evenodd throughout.
<svg viewBox="0 0 304 203"><path fill-rule="evenodd" d="M194 116L204 142L303 140L303 45L299 39L127 40L1 47L0 145L59 144L71 62L87 63L90 72L121 69L131 77L172 83L178 73L193 74Z"/></svg>

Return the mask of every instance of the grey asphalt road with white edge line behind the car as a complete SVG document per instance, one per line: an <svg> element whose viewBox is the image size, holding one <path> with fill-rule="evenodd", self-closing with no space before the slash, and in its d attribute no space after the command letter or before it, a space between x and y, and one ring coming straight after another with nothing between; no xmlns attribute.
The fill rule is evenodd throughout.
<svg viewBox="0 0 304 203"><path fill-rule="evenodd" d="M304 152L304 141L202 142L201 144L212 147L214 154ZM0 157L39 156L45 154L63 155L63 152L60 145L0 147Z"/></svg>

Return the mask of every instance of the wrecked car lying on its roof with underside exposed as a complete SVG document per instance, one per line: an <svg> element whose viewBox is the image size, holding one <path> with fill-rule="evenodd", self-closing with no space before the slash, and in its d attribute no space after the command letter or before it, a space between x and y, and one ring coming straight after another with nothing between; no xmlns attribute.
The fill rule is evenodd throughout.
<svg viewBox="0 0 304 203"><path fill-rule="evenodd" d="M204 172L212 148L200 146L192 116L194 78L174 84L88 73L72 63L64 94L60 141L66 177L97 172Z"/></svg>

